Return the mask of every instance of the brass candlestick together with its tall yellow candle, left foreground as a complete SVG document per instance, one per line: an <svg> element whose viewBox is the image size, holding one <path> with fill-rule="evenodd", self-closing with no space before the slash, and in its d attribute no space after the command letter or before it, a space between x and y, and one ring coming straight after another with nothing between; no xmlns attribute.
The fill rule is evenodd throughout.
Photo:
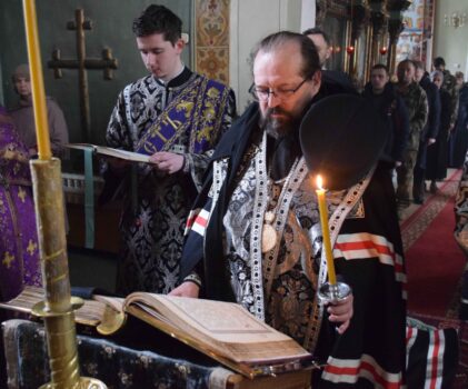
<svg viewBox="0 0 468 389"><path fill-rule="evenodd" d="M61 168L60 160L51 157L34 0L23 0L23 13L39 153L39 160L31 161L31 176L46 291L33 313L46 323L51 369L51 381L41 388L106 388L98 380L80 378L73 309L82 302L72 301L70 295Z"/></svg>

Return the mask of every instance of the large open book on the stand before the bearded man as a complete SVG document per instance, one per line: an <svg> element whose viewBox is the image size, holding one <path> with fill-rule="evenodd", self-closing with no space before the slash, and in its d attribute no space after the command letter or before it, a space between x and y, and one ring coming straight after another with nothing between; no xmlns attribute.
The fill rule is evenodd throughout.
<svg viewBox="0 0 468 389"><path fill-rule="evenodd" d="M27 287L0 308L30 312L43 290ZM290 337L255 318L233 302L135 292L126 299L94 296L74 312L78 323L111 335L127 315L170 335L241 375L277 375L300 370L311 355Z"/></svg>

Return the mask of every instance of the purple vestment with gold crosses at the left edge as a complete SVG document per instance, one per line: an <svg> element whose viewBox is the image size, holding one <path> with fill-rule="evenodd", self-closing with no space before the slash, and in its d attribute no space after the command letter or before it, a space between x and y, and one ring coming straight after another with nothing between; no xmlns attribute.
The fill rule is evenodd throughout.
<svg viewBox="0 0 468 389"><path fill-rule="evenodd" d="M41 286L28 149L0 106L0 300Z"/></svg>

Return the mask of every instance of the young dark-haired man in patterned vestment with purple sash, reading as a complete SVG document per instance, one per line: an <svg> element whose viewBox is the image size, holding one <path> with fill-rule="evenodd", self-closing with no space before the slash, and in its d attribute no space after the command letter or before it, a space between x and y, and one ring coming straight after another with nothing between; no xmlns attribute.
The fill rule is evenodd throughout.
<svg viewBox="0 0 468 389"><path fill-rule="evenodd" d="M149 74L122 90L107 129L108 146L150 154L152 162L110 161L104 168L104 192L121 184L125 196L117 287L123 295L175 287L190 206L212 148L236 113L229 88L182 63L181 28L163 6L149 6L135 20Z"/></svg>

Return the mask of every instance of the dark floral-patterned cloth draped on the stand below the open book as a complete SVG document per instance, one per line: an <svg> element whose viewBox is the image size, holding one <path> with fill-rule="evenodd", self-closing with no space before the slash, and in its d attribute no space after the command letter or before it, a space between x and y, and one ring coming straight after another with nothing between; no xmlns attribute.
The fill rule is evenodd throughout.
<svg viewBox="0 0 468 389"><path fill-rule="evenodd" d="M44 329L28 320L2 323L9 388L38 388L50 381ZM232 371L201 366L151 351L78 336L81 375L98 378L109 388L226 388Z"/></svg>

